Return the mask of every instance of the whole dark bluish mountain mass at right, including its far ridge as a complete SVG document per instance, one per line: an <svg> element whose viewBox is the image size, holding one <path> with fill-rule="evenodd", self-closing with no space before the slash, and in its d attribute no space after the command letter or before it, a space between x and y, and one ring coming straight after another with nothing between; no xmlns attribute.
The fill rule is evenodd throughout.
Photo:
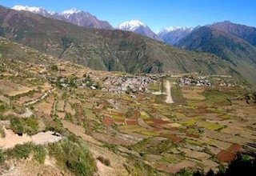
<svg viewBox="0 0 256 176"><path fill-rule="evenodd" d="M194 30L175 46L215 54L235 66L248 81L254 82L255 36L254 27L217 22Z"/></svg>

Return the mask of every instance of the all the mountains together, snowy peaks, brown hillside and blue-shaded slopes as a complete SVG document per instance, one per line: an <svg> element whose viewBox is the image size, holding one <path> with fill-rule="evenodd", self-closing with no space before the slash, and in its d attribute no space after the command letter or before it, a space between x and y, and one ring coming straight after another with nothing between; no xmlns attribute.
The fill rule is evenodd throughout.
<svg viewBox="0 0 256 176"><path fill-rule="evenodd" d="M123 22L116 30L82 10L13 9L1 7L0 36L96 70L231 74L256 83L251 76L256 73L254 27L218 22L154 34L138 20Z"/></svg>

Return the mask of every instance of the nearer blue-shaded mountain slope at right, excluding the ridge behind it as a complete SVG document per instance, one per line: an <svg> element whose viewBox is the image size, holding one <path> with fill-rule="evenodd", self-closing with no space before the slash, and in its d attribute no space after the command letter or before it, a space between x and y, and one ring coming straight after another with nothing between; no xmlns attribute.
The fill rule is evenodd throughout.
<svg viewBox="0 0 256 176"><path fill-rule="evenodd" d="M216 54L230 62L249 82L256 83L256 48L242 38L213 26L203 26L183 38L176 46Z"/></svg>

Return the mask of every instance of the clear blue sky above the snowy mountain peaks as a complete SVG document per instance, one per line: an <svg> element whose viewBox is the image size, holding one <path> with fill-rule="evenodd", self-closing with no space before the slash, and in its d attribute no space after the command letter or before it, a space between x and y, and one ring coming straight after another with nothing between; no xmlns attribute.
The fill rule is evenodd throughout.
<svg viewBox="0 0 256 176"><path fill-rule="evenodd" d="M42 6L62 12L85 10L112 26L139 19L154 31L169 26L198 26L229 20L256 26L256 0L0 0L2 6Z"/></svg>

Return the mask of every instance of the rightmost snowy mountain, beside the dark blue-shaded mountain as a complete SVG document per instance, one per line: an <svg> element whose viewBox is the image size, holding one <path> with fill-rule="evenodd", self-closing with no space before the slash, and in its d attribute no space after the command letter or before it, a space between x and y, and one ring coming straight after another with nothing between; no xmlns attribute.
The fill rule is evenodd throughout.
<svg viewBox="0 0 256 176"><path fill-rule="evenodd" d="M194 29L194 27L172 26L162 29L158 33L158 36L162 39L163 42L166 42L173 46L182 38L185 38L188 34L190 34Z"/></svg>

